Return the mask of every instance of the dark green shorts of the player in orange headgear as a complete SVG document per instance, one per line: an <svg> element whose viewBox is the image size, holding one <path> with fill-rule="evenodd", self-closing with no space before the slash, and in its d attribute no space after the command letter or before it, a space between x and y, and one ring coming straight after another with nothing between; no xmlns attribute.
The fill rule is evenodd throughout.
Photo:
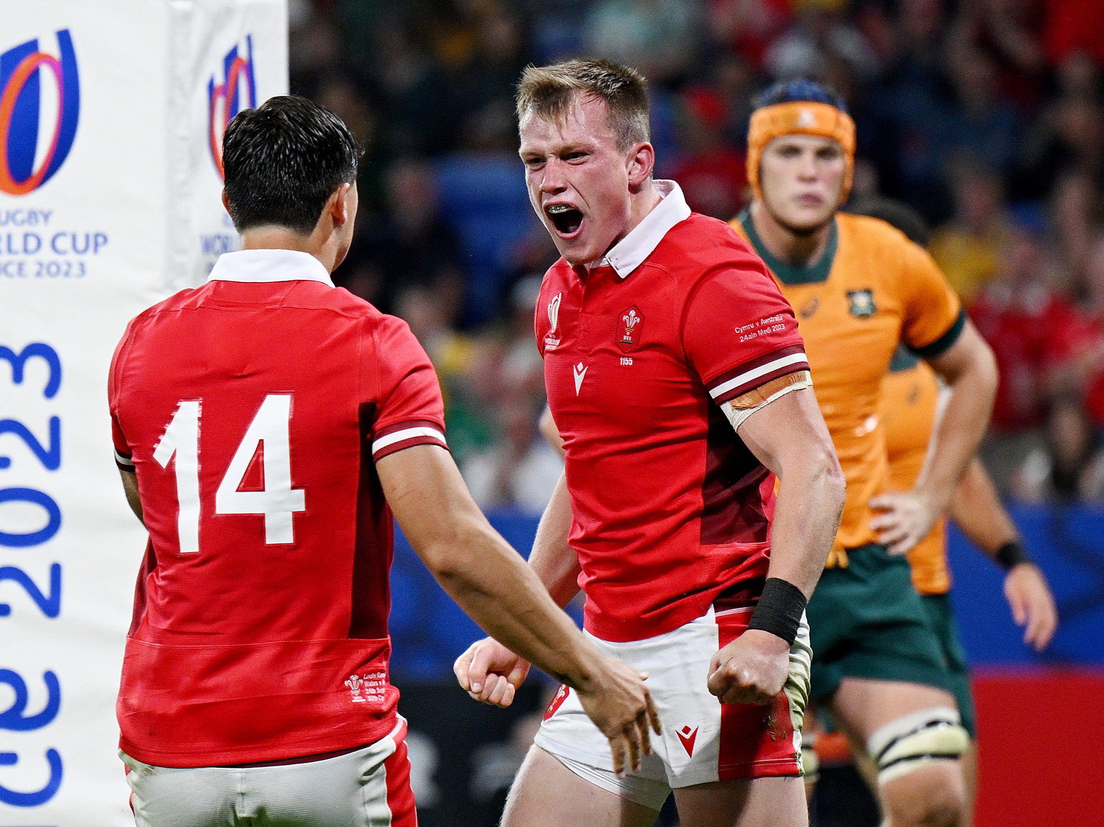
<svg viewBox="0 0 1104 827"><path fill-rule="evenodd" d="M806 609L813 699L828 699L845 677L952 691L947 659L913 588L907 558L877 544L848 549L847 556L847 567L825 569Z"/></svg>

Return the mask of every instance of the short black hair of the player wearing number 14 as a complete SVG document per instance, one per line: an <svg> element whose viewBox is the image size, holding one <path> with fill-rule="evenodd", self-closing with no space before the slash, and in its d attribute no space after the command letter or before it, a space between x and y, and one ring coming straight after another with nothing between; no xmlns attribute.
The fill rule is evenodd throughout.
<svg viewBox="0 0 1104 827"><path fill-rule="evenodd" d="M277 225L309 234L333 191L357 180L352 132L307 98L280 95L243 109L222 139L234 227Z"/></svg>

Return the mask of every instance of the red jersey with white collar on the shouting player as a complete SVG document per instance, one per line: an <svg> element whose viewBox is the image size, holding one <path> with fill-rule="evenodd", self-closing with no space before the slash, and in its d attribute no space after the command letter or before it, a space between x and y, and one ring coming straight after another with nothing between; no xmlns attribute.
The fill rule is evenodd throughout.
<svg viewBox="0 0 1104 827"><path fill-rule="evenodd" d="M537 305L566 450L586 629L669 632L766 574L774 476L719 404L807 370L774 279L673 182L597 267L560 259Z"/></svg>

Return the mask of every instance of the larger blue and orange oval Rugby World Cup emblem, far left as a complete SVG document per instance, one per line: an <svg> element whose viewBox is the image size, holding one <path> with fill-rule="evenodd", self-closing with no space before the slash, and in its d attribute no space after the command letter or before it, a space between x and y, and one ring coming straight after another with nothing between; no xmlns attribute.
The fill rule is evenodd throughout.
<svg viewBox="0 0 1104 827"><path fill-rule="evenodd" d="M26 195L68 157L81 115L81 83L68 29L56 56L29 40L0 54L0 192Z"/></svg>

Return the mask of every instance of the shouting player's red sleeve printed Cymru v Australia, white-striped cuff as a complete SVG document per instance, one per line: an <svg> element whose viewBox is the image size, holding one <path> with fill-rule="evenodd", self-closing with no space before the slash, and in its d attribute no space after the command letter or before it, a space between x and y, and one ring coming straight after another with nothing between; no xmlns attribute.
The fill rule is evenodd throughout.
<svg viewBox="0 0 1104 827"><path fill-rule="evenodd" d="M797 319L765 269L705 276L687 300L682 346L718 405L757 397L809 369Z"/></svg>

